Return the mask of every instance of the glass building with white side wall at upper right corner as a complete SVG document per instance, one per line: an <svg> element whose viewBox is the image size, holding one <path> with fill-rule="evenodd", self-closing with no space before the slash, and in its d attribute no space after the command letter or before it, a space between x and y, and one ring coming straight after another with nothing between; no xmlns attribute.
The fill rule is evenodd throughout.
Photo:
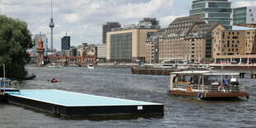
<svg viewBox="0 0 256 128"><path fill-rule="evenodd" d="M249 26L256 28L256 7L238 7L233 10L234 26Z"/></svg>

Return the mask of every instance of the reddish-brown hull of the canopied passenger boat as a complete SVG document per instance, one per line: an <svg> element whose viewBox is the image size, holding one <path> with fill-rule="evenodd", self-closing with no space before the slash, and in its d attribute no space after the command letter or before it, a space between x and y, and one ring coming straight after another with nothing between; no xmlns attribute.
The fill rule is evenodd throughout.
<svg viewBox="0 0 256 128"><path fill-rule="evenodd" d="M170 90L172 95L198 97L198 92ZM248 97L247 92L200 92L200 98Z"/></svg>

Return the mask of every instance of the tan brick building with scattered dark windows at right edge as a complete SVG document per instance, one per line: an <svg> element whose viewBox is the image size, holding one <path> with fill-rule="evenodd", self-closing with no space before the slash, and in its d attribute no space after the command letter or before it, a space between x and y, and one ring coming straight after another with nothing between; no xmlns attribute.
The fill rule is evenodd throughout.
<svg viewBox="0 0 256 128"><path fill-rule="evenodd" d="M256 62L256 30L212 31L212 58L221 62Z"/></svg>

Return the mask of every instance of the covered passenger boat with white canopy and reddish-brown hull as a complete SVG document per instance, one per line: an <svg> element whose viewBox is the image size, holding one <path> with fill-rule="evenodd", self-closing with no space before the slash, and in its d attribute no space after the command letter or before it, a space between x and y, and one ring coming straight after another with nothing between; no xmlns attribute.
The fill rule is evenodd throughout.
<svg viewBox="0 0 256 128"><path fill-rule="evenodd" d="M236 82L230 83L235 77ZM226 84L225 84L226 82ZM170 74L168 94L198 97L200 99L246 97L245 85L239 83L239 73L214 71L183 71Z"/></svg>

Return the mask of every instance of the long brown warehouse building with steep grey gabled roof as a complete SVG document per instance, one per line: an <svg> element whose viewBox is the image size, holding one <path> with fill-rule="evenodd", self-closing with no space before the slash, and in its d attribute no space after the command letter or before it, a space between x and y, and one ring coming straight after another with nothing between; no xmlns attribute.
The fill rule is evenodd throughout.
<svg viewBox="0 0 256 128"><path fill-rule="evenodd" d="M220 23L206 23L198 16L178 17L168 28L149 37L146 63L210 61L211 31L216 27L225 29Z"/></svg>

